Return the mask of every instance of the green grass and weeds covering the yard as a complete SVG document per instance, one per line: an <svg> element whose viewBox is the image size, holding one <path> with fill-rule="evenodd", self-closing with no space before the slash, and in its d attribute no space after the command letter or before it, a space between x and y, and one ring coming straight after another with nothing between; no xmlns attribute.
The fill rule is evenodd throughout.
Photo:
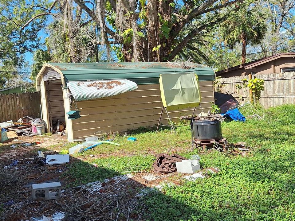
<svg viewBox="0 0 295 221"><path fill-rule="evenodd" d="M247 113L247 116L252 113ZM170 130L133 132L137 142L116 136L120 146L100 145L89 154L105 154L70 165L67 176L81 183L148 171L155 153L201 155L201 167L218 167L220 173L195 182L166 187L163 193L143 198L148 220L295 220L295 105L263 110L263 119L223 122L223 136L229 143L246 142L246 156L217 150L203 153L191 149L189 127ZM112 155L112 156L110 156ZM81 154L77 155L80 159ZM99 168L91 164L96 163Z"/></svg>

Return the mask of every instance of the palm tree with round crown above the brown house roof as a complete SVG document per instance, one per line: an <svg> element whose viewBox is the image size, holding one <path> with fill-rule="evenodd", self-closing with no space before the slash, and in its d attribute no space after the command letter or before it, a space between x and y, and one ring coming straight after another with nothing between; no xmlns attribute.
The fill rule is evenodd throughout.
<svg viewBox="0 0 295 221"><path fill-rule="evenodd" d="M259 44L266 32L265 17L254 8L239 10L221 27L221 35L226 45L233 48L242 42L242 64L246 63L246 45Z"/></svg>

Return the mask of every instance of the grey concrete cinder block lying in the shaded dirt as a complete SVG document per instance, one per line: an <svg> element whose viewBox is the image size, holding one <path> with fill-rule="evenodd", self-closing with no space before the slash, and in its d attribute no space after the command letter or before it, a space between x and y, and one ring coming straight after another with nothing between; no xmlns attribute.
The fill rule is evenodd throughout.
<svg viewBox="0 0 295 221"><path fill-rule="evenodd" d="M61 182L32 185L32 199L54 200L61 198Z"/></svg>

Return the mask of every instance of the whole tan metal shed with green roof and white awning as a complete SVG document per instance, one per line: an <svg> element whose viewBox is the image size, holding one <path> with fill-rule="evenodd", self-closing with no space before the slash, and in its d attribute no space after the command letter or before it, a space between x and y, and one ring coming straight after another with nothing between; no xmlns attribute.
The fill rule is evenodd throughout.
<svg viewBox="0 0 295 221"><path fill-rule="evenodd" d="M212 68L191 62L152 63L45 63L36 78L41 91L42 116L50 131L54 119L65 120L68 141L108 132L154 126L162 101L159 75L194 72L199 78L201 104L214 102ZM65 114L79 110L81 118ZM200 112L200 109L196 109ZM191 109L171 111L177 120ZM163 121L167 116L162 117ZM166 123L166 122L162 122Z"/></svg>

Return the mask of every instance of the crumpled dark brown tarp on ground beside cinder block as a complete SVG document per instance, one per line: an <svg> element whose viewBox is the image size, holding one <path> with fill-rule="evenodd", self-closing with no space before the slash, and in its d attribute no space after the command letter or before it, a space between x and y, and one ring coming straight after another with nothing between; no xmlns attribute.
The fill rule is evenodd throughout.
<svg viewBox="0 0 295 221"><path fill-rule="evenodd" d="M156 155L156 160L153 164L153 169L155 173L172 173L176 171L176 162L181 162L182 160L187 160L187 158L182 157L176 153L168 155L167 153L159 153Z"/></svg>

